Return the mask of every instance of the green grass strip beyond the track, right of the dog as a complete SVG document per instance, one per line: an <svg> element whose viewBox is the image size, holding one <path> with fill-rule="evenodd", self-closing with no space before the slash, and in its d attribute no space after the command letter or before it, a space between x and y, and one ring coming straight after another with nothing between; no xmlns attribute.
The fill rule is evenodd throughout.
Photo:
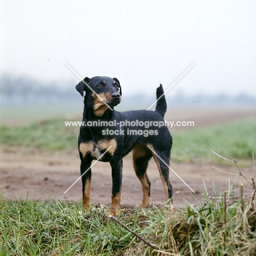
<svg viewBox="0 0 256 256"><path fill-rule="evenodd" d="M256 153L256 119L172 132L174 160L213 160L212 149L226 158L252 159Z"/></svg>

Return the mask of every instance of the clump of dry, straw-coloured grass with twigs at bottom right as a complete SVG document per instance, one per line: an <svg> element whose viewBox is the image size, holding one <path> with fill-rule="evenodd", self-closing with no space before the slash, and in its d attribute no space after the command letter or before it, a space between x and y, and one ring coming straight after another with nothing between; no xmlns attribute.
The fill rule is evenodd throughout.
<svg viewBox="0 0 256 256"><path fill-rule="evenodd" d="M217 154L218 155L218 154ZM220 156L220 155L218 155ZM220 156L223 158L223 156ZM190 205L187 211L176 210L165 213L164 219L157 219L148 226L147 239L159 249L141 245L136 249L140 255L255 255L256 254L256 187L243 174L236 160L240 174L251 185L252 193L234 196L234 183L228 191L219 196L213 184L214 196L208 196L207 188L202 202ZM254 158L253 158L254 160ZM130 252L133 255L134 252ZM134 254L135 255L135 254Z"/></svg>

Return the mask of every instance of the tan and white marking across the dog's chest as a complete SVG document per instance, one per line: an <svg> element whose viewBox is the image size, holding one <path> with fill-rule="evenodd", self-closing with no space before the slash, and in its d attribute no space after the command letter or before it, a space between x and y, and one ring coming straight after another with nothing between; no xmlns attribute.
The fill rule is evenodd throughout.
<svg viewBox="0 0 256 256"><path fill-rule="evenodd" d="M80 143L79 151L83 155L83 158L88 152L90 152L93 158L98 159L104 153L101 153L101 151L107 150L110 146L112 147L108 150L108 153L113 156L115 150L117 149L117 141L115 141L114 138L110 139L109 141L102 139L101 141L98 142L90 141L86 143Z"/></svg>

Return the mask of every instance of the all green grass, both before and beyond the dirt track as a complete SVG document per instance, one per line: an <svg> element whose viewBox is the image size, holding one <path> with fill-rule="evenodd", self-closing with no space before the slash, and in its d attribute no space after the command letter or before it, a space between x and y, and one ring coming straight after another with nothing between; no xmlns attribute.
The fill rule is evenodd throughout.
<svg viewBox="0 0 256 256"><path fill-rule="evenodd" d="M255 153L256 120L236 121L204 129L173 132L172 158L211 159L210 149L226 158L251 159ZM45 120L26 126L1 126L4 147L73 150L79 127L65 127L63 120ZM208 153L209 152L209 153ZM212 154L212 159L216 155ZM201 194L197 205L171 211L123 209L118 216L131 230L156 245L144 244L106 215L108 209L80 203L11 201L0 196L0 255L246 255L256 252L254 194L228 191ZM252 184L255 184L254 181Z"/></svg>

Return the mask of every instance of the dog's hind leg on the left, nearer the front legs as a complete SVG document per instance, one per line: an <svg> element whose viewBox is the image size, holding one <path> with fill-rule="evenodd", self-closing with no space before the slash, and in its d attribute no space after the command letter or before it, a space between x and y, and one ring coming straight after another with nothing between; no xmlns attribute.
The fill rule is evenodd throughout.
<svg viewBox="0 0 256 256"><path fill-rule="evenodd" d="M147 175L148 161L152 158L152 153L146 146L136 146L132 150L133 168L136 176L142 185L143 199L138 207L148 208L150 196L150 181Z"/></svg>

